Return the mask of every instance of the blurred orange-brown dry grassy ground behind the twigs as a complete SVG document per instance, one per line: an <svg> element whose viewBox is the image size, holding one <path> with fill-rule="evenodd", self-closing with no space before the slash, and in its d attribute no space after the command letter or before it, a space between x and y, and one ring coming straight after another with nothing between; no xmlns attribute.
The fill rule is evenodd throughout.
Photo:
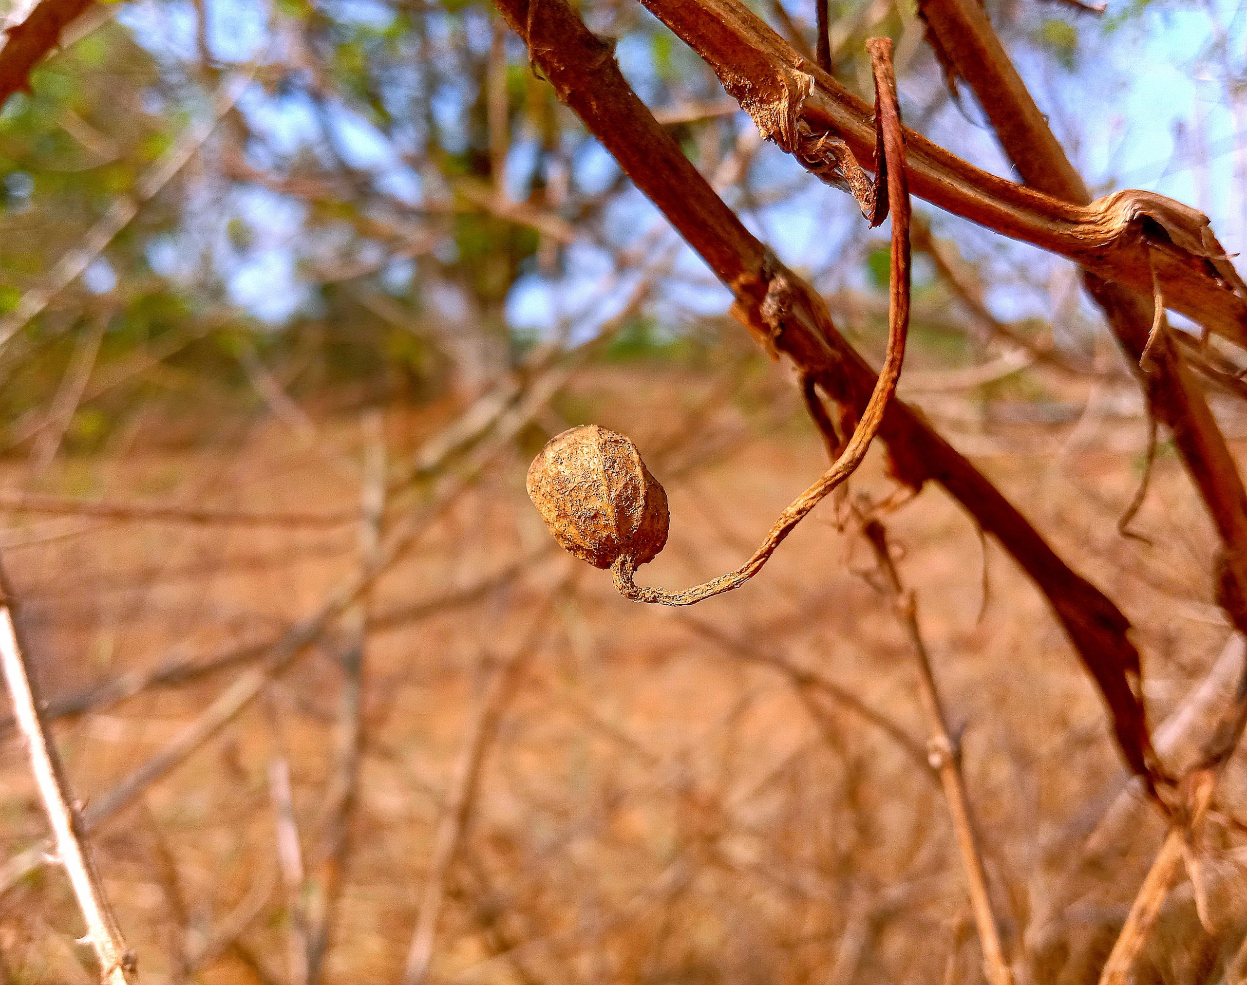
<svg viewBox="0 0 1247 985"><path fill-rule="evenodd" d="M938 784L913 749L844 699L884 716L919 748L925 742L904 636L872 585L867 545L852 525L837 527L837 507L824 504L747 587L673 612L624 601L609 575L554 549L524 494L527 458L544 436L569 419L592 419L627 431L671 497L670 546L642 581L680 587L734 566L822 468L821 444L783 375L748 373L725 400L713 374L591 369L556 403L560 413L549 411L458 496L378 584L359 793L325 980L400 978L439 818L485 694L496 721L476 737L480 774L445 870L430 980L981 978ZM1069 390L1074 406L1087 396ZM1231 631L1206 584L1208 524L1165 449L1135 524L1151 542L1119 535L1143 424L1101 416L1096 406L1114 406L1105 396L1062 425L1000 423L1006 401L945 394L927 404L1134 620L1160 723L1215 666ZM392 469L444 416L392 409ZM1226 421L1235 431L1232 409ZM41 488L253 511L353 510L359 421L325 414L315 426L315 441L264 418L219 426L217 449L135 443L69 458ZM890 489L873 453L850 495L878 500ZM410 509L409 499L393 501L388 522ZM964 727L964 769L1006 949L1024 955L1025 980L1094 981L1161 823L1136 798L1096 849L1092 832L1125 774L1055 621L1006 557L991 545L984 554L939 491L902 506L889 526L950 716ZM171 655L264 638L312 611L358 564L350 524L15 515L4 536L44 691L54 696ZM453 605L394 616L481 585ZM311 858L333 772L345 645L342 630L325 636L263 702L95 837L146 981L294 980L292 925L309 890L283 882L281 777L288 767ZM499 690L496 668L513 661ZM236 673L61 722L79 794L87 803L100 795ZM9 858L42 837L45 820L20 744L10 737L0 748L0 849ZM1243 980L1242 803L1240 759L1197 847L1208 926L1183 879L1140 980ZM5 893L9 979L90 981L85 949L74 943L77 920L52 870ZM192 968L196 955L202 966Z"/></svg>

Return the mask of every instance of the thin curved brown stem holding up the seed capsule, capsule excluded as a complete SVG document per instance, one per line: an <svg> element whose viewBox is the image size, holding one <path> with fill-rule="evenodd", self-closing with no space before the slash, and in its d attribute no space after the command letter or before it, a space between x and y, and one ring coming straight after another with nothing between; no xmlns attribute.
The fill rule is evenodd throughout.
<svg viewBox="0 0 1247 985"><path fill-rule="evenodd" d="M875 113L879 120L883 157L887 162L888 201L892 207L892 268L888 284L888 354L874 384L870 400L839 458L818 480L779 514L766 540L743 565L726 575L695 585L683 591L667 591L637 585L632 577L636 562L622 556L611 565L615 587L620 595L636 602L663 606L687 606L713 595L732 591L752 579L774 554L793 529L828 492L848 479L862 464L870 441L883 424L883 414L897 389L900 367L905 358L909 334L909 183L905 176L905 140L900 127L900 106L897 80L892 69L892 41L873 37L867 41L874 70Z"/></svg>

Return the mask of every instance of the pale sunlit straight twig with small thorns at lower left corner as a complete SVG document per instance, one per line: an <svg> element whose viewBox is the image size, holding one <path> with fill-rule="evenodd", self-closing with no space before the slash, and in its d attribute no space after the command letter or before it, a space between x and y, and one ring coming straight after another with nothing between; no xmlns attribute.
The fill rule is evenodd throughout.
<svg viewBox="0 0 1247 985"><path fill-rule="evenodd" d="M56 858L69 875L79 909L86 920L87 938L100 961L101 978L107 985L133 985L138 980L137 961L126 946L117 919L91 858L82 817L52 744L35 697L35 686L26 666L25 648L14 622L12 593L0 570L0 665L12 698L17 729L26 742L30 768L39 788L44 810L52 827Z"/></svg>

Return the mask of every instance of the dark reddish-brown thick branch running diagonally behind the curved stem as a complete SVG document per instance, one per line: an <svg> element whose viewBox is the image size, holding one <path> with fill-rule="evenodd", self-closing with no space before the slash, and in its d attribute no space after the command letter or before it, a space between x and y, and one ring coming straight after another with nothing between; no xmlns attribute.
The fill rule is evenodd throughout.
<svg viewBox="0 0 1247 985"><path fill-rule="evenodd" d="M564 0L495 4L529 44L532 61L559 97L732 291L738 320L767 352L783 353L814 380L837 403L850 430L877 374L837 332L823 298L744 228L632 92L610 47ZM688 6L698 2L690 0ZM872 146L873 135L872 125ZM907 155L920 138L908 140ZM913 181L913 168L907 170ZM900 481L915 489L928 480L943 485L1047 596L1100 686L1131 769L1152 776L1151 743L1136 693L1139 651L1121 611L1075 574L1013 504L904 403L889 403L879 436Z"/></svg>

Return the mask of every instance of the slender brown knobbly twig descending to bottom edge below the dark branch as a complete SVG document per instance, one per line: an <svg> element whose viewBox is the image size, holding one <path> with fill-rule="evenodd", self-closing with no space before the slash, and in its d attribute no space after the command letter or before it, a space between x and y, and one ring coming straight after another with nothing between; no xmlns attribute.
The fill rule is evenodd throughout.
<svg viewBox="0 0 1247 985"><path fill-rule="evenodd" d="M863 532L874 549L884 589L898 618L905 627L905 635L909 637L909 646L918 666L918 694L922 699L923 717L927 719L927 728L930 732L930 742L927 747L929 762L932 768L939 773L944 799L948 802L948 812L953 818L953 829L956 832L956 844L961 853L961 865L965 869L974 921L983 944L983 960L986 965L988 980L993 985L1013 985L1014 976L1000 943L1000 925L991 906L988 874L979 853L970 814L970 800L965 790L965 778L961 776L961 752L948 727L948 716L935 685L927 643L918 625L918 603L914 592L907 591L900 581L900 574L892 559L883 524L874 519L868 520L863 526Z"/></svg>

